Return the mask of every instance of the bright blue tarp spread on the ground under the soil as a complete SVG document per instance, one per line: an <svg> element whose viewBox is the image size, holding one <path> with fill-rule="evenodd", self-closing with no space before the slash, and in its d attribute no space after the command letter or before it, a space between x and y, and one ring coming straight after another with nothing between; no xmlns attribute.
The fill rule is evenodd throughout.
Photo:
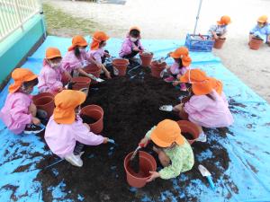
<svg viewBox="0 0 270 202"><path fill-rule="evenodd" d="M87 40L90 38L87 37ZM179 40L142 40L145 48L154 52L155 57L164 57L169 51L184 45ZM35 74L39 74L45 49L58 47L64 55L67 52L71 39L49 36L40 48L28 58L23 67L30 68ZM118 56L121 40L111 39L107 47L112 56ZM219 140L220 144L227 149L229 154L229 168L224 175L216 181L215 191L202 180L193 179L193 183L185 189L190 195L202 202L241 201L241 202L263 202L270 201L270 107L265 100L242 83L236 75L233 75L220 62L220 58L211 53L191 53L193 67L202 68L208 75L220 79L224 83L224 92L229 98L230 104L234 105L232 112L235 119L233 126L229 127L230 133L227 138ZM168 60L172 63L172 60ZM243 71L244 70L243 66ZM7 95L7 86L0 93L0 107L4 105ZM37 90L35 89L35 92ZM239 104L240 103L240 104ZM211 133L213 133L211 131ZM211 136L209 140L211 141ZM42 160L44 155L50 154L45 149L40 136L12 134L0 120L0 201L42 201L40 181L35 180L40 169L36 164ZM195 156L200 159L211 159L211 151L206 150ZM222 156L220 156L222 158ZM57 158L56 158L57 160ZM214 162L213 162L214 163ZM216 163L218 164L218 163ZM26 168L26 169L25 169ZM58 171L53 169L57 176ZM224 176L228 176L224 178ZM178 180L184 180L184 173ZM175 184L174 189L182 191ZM233 186L229 186L229 183ZM65 189L62 180L58 186L49 187L54 201L72 201L67 199L70 190ZM137 189L130 189L137 191ZM170 198L176 201L170 191L160 193L160 200ZM77 193L77 200L84 197ZM148 196L142 201L150 201Z"/></svg>

